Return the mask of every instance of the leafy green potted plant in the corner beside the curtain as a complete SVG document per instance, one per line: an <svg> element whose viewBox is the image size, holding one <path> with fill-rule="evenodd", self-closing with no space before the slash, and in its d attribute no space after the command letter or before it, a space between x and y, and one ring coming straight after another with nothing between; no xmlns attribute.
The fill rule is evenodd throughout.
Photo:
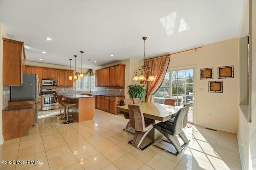
<svg viewBox="0 0 256 170"><path fill-rule="evenodd" d="M140 98L140 101L143 102L142 97L145 93L145 89L143 88L145 85L128 85L128 94L130 95L130 99Z"/></svg>

